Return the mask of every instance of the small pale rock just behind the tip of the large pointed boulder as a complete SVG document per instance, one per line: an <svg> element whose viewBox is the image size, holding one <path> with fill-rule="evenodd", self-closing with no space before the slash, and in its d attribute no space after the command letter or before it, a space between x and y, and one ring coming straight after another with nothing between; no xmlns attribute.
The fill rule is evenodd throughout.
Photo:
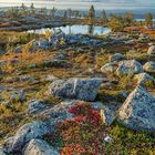
<svg viewBox="0 0 155 155"><path fill-rule="evenodd" d="M137 80L137 84L142 86L147 86L148 84L154 84L155 79L147 73L140 73L134 76Z"/></svg>

